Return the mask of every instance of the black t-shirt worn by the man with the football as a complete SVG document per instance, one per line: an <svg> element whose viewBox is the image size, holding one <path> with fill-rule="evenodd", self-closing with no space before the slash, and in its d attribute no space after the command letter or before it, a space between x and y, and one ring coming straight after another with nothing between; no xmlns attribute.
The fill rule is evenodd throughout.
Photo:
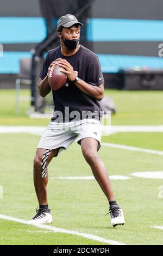
<svg viewBox="0 0 163 256"><path fill-rule="evenodd" d="M95 53L91 52L83 45L80 45L78 52L72 56L63 56L61 53L61 46L48 51L40 72L41 79L45 78L49 65L57 58L66 59L67 62L73 66L73 69L77 72L78 77L84 80L86 83L92 84L93 86L99 86L100 84L104 83L98 57ZM80 119L99 117L99 113L102 111L102 108L98 100L83 93L74 83L70 81L68 81L68 84L66 85L67 86L63 86L56 91L52 91L54 101L54 117L52 118L52 121L61 121L61 116L58 115L59 112L63 114L63 121L73 120L73 118L76 117L77 112L80 114ZM72 111L77 112L72 112L71 116L68 117L68 115L65 114L65 107L66 111L69 113ZM93 116L90 114L92 112Z"/></svg>

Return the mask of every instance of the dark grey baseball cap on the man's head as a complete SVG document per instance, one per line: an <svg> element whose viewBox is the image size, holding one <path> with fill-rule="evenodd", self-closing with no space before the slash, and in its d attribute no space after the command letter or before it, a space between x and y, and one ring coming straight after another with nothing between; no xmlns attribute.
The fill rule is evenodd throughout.
<svg viewBox="0 0 163 256"><path fill-rule="evenodd" d="M65 28L70 28L74 24L78 24L83 27L83 24L80 23L74 15L66 14L64 16L61 16L57 24L57 31L60 31L61 26Z"/></svg>

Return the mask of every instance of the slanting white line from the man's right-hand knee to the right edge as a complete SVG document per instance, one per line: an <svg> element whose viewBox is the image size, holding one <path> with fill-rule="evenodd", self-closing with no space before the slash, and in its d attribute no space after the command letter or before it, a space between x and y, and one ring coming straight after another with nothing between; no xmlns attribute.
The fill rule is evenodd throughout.
<svg viewBox="0 0 163 256"><path fill-rule="evenodd" d="M137 151L137 152L143 152L143 153L163 156L163 151L153 150L153 149L143 149L143 148L130 147L127 145L104 143L104 142L102 143L102 146L109 147L109 148L116 148L116 149L126 149L126 150L130 150L130 151Z"/></svg>

